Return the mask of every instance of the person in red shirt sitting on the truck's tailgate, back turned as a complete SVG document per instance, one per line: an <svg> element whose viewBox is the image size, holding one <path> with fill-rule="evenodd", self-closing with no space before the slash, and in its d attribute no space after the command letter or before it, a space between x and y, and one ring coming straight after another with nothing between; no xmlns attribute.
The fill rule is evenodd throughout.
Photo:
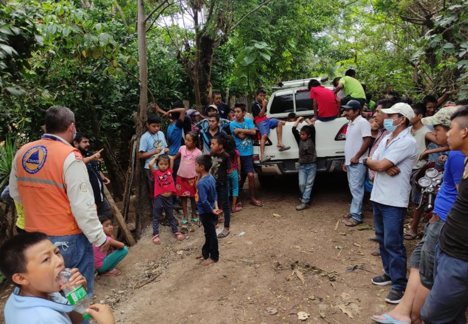
<svg viewBox="0 0 468 324"><path fill-rule="evenodd" d="M337 118L340 114L341 99L337 97L335 92L322 86L316 79L311 79L307 86L310 91L310 99L313 100L315 120L329 121Z"/></svg>

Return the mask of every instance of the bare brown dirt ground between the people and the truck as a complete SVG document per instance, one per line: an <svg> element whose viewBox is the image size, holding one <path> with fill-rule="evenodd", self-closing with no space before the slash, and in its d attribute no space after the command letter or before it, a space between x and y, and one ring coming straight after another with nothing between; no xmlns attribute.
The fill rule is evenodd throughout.
<svg viewBox="0 0 468 324"><path fill-rule="evenodd" d="M301 212L297 182L276 184L258 187L264 207L244 199L231 234L220 239L218 263L195 260L202 226L192 225L182 242L161 226L159 246L148 228L118 266L121 276L96 278L94 301L110 304L118 323L372 323L372 314L393 308L384 301L390 287L371 283L383 272L370 254L372 212L365 210L363 225L344 225L345 176L318 175L311 207ZM408 255L415 243L406 241ZM2 291L0 301L8 295ZM299 312L310 315L299 320Z"/></svg>

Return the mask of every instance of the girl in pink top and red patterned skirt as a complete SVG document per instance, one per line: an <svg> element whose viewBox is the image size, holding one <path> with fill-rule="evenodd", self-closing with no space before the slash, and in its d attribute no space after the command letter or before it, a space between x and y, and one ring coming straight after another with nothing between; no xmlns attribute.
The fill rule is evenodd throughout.
<svg viewBox="0 0 468 324"><path fill-rule="evenodd" d="M185 136L185 145L179 148L174 159L181 158L181 165L177 170L175 179L175 195L181 197L182 211L184 219L182 225L187 225L189 218L187 215L187 198L190 198L192 204L192 221L198 222L196 214L197 205L195 203L195 194L197 193L197 172L195 171L195 160L202 154L198 148L200 141L198 136L193 133L187 133Z"/></svg>

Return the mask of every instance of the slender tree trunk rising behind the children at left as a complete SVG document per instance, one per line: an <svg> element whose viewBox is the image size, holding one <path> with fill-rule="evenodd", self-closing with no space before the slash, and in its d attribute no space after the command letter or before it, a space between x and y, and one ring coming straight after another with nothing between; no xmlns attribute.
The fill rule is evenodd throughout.
<svg viewBox="0 0 468 324"><path fill-rule="evenodd" d="M146 23L145 23L145 4L143 0L138 1L138 62L140 79L140 101L138 104L138 113L136 114L136 143L139 143L141 135L145 133L145 122L148 119L148 57L146 47ZM151 200L149 199L149 190L146 180L145 169L142 161L136 163L135 186L137 188L137 208L135 215L136 239L139 239L141 225L145 215L151 214Z"/></svg>

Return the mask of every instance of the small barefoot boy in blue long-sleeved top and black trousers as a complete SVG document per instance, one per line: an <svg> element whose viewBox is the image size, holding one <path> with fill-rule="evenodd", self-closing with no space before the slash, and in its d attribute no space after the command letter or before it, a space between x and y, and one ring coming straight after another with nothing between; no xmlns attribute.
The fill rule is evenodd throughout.
<svg viewBox="0 0 468 324"><path fill-rule="evenodd" d="M205 244L201 248L201 255L197 259L203 259L202 266L208 266L212 263L218 262L220 252L218 250L218 237L216 236L215 223L218 220L218 215L221 210L218 209L216 182L213 176L209 173L212 162L211 157L208 155L200 155L195 162L195 171L197 171L198 180L197 195L195 201L197 202L198 214L200 221L203 225L205 232Z"/></svg>

